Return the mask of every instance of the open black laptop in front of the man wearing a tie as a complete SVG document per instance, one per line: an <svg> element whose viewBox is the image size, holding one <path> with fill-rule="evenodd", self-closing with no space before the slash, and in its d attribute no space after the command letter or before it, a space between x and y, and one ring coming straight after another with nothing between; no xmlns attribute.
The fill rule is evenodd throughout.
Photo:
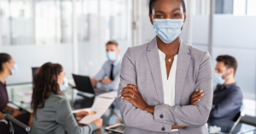
<svg viewBox="0 0 256 134"><path fill-rule="evenodd" d="M107 91L102 91L101 89L97 89L92 87L90 77L86 75L73 75L73 81L76 84L76 89L79 90L79 92L88 92L94 95L102 94Z"/></svg>

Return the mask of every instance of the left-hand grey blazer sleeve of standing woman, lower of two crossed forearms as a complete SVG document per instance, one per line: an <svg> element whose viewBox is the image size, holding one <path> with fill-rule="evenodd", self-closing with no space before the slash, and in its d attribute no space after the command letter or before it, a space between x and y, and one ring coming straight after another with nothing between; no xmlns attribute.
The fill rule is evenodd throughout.
<svg viewBox="0 0 256 134"><path fill-rule="evenodd" d="M135 65L136 62L134 59L134 54L132 52L132 48L130 47L126 51L122 62L118 96L125 85L133 84L137 86L137 70ZM170 132L172 130L171 123L167 123L167 121L155 121L153 114L150 114L142 109L137 109L129 101L118 97L118 102L125 126L154 132ZM165 129L162 129L163 127L165 127Z"/></svg>

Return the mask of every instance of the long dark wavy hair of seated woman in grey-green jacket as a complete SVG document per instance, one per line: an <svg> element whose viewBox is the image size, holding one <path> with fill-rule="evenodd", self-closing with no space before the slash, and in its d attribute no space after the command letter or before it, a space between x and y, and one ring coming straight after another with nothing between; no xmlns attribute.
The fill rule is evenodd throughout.
<svg viewBox="0 0 256 134"><path fill-rule="evenodd" d="M44 108L44 103L51 92L60 93L58 84L58 75L63 70L61 64L46 63L43 64L33 79L33 93L31 107L36 117L37 109ZM37 117L36 117L37 119Z"/></svg>

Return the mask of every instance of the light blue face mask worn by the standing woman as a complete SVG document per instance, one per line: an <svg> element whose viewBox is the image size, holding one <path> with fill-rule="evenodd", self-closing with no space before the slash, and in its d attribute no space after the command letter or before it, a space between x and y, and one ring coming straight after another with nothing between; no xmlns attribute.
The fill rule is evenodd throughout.
<svg viewBox="0 0 256 134"><path fill-rule="evenodd" d="M181 34L183 20L154 20L154 31L165 43L171 43Z"/></svg>

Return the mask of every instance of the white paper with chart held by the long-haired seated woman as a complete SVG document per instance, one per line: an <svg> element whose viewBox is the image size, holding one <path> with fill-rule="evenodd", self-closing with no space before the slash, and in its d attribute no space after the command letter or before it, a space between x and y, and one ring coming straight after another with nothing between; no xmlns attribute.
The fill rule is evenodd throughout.
<svg viewBox="0 0 256 134"><path fill-rule="evenodd" d="M114 98L96 98L93 103L90 114L79 121L80 124L88 125L91 121L99 119L113 103Z"/></svg>

